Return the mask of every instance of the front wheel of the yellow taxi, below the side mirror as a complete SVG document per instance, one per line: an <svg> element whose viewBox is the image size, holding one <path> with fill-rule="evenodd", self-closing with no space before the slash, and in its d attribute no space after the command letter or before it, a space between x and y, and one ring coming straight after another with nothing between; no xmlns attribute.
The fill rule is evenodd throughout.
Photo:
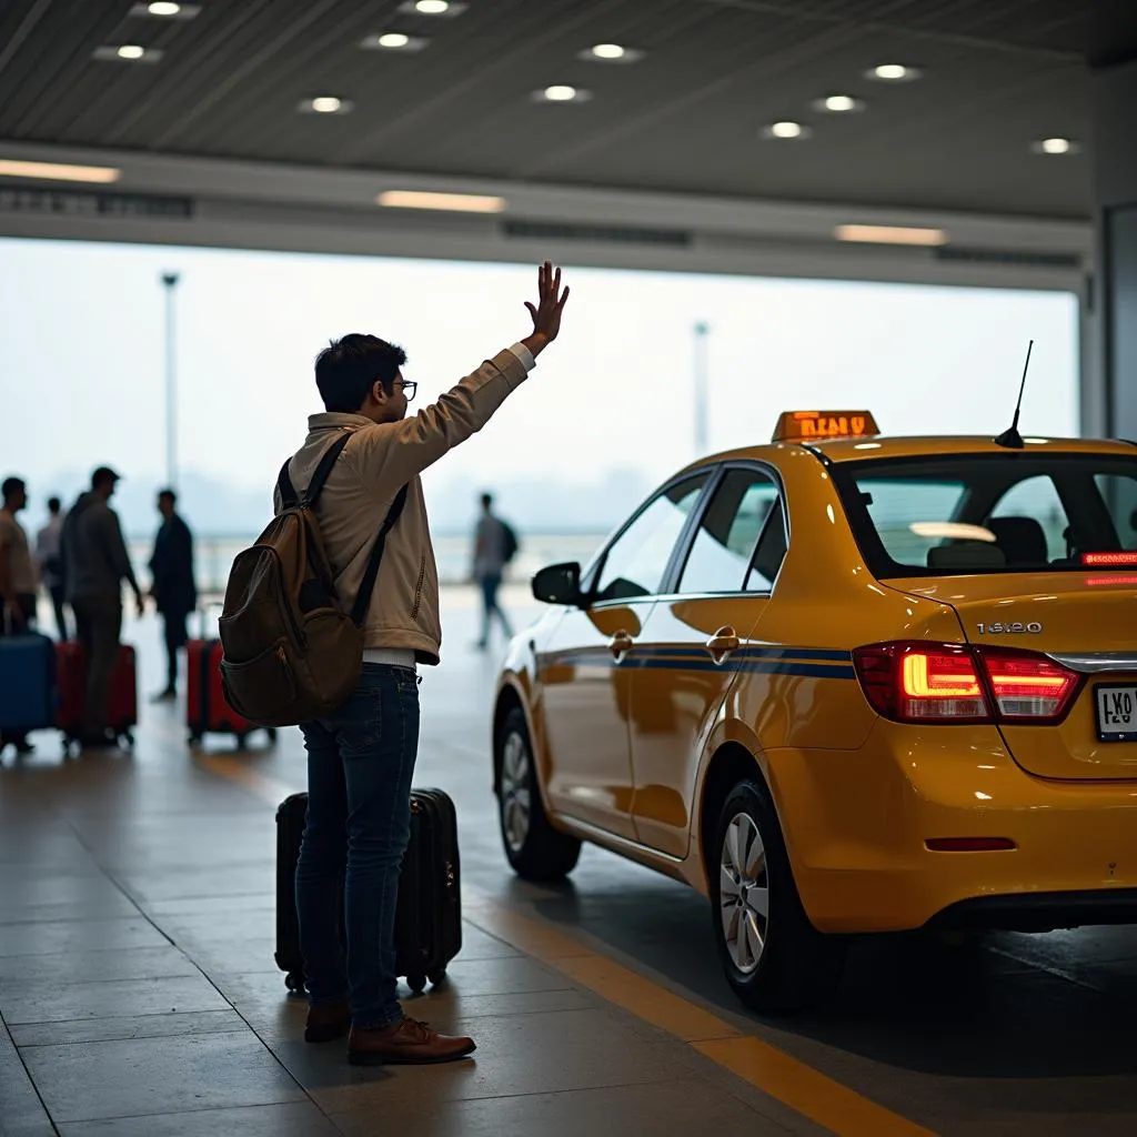
<svg viewBox="0 0 1137 1137"><path fill-rule="evenodd" d="M567 877L580 858L580 841L549 824L537 781L529 727L520 707L505 719L496 741L498 827L513 871L524 880Z"/></svg>

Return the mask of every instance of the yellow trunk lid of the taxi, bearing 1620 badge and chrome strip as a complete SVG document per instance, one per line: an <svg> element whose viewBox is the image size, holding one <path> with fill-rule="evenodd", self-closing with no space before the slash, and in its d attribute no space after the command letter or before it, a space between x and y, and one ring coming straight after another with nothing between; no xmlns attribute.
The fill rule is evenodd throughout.
<svg viewBox="0 0 1137 1137"><path fill-rule="evenodd" d="M1014 761L1043 778L1137 779L1137 573L897 580L955 609L969 644L1039 653L1076 672L1057 724L1001 722Z"/></svg>

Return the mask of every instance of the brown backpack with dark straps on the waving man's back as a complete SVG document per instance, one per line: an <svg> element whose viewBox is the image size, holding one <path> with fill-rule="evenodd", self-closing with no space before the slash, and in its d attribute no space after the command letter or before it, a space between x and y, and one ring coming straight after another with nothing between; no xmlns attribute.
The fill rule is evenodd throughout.
<svg viewBox="0 0 1137 1137"><path fill-rule="evenodd" d="M291 727L334 711L355 690L363 669L363 624L379 576L387 534L399 520L407 487L395 497L375 538L359 595L347 611L324 551L316 506L351 432L324 453L298 496L281 467L283 509L239 553L230 570L218 622L225 702L260 727Z"/></svg>

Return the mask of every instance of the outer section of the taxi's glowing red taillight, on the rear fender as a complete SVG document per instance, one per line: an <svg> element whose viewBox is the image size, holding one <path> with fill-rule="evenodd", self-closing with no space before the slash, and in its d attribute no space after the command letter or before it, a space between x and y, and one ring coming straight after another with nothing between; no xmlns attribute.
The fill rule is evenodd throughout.
<svg viewBox="0 0 1137 1137"><path fill-rule="evenodd" d="M901 722L989 719L976 661L952 644L874 644L854 653L873 708Z"/></svg>

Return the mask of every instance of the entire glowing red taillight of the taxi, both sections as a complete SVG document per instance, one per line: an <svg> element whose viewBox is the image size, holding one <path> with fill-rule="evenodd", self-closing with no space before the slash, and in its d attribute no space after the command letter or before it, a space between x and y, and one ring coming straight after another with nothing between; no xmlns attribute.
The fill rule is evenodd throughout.
<svg viewBox="0 0 1137 1137"><path fill-rule="evenodd" d="M1061 721L1079 675L1037 652L960 644L873 644L853 653L873 709L896 722Z"/></svg>

